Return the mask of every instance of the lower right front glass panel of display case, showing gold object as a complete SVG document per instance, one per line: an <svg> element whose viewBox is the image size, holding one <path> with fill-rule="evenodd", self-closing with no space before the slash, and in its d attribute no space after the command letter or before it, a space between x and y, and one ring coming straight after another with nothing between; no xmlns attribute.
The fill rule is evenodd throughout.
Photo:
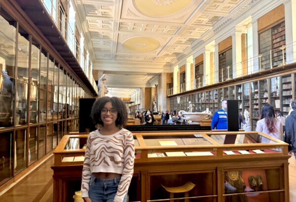
<svg viewBox="0 0 296 202"><path fill-rule="evenodd" d="M281 201L284 184L281 168L239 169L224 171L224 201ZM272 192L270 192L272 191Z"/></svg>

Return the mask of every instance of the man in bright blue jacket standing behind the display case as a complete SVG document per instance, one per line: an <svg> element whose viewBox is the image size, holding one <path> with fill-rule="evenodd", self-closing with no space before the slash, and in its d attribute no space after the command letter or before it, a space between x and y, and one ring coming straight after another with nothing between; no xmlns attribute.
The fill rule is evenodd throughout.
<svg viewBox="0 0 296 202"><path fill-rule="evenodd" d="M221 102L222 109L214 113L212 119L212 130L227 129L227 99L223 99Z"/></svg>

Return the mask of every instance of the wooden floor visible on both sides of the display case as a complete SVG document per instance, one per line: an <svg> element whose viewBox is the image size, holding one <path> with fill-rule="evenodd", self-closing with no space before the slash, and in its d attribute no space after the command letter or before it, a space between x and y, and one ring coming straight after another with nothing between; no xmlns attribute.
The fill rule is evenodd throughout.
<svg viewBox="0 0 296 202"><path fill-rule="evenodd" d="M290 202L296 202L296 160L289 159ZM53 156L0 196L0 202L53 202Z"/></svg>

